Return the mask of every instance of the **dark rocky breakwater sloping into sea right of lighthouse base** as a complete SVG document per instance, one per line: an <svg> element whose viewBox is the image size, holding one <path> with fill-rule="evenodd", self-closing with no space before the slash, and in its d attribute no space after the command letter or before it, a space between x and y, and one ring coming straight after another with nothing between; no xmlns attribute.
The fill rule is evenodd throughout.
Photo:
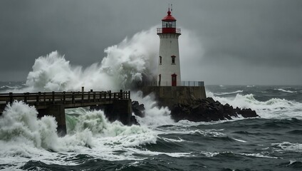
<svg viewBox="0 0 302 171"><path fill-rule="evenodd" d="M175 104L171 108L171 117L176 122L179 120L190 120L194 122L209 122L217 120L231 120L231 118L239 117L244 118L259 117L255 110L233 108L229 104L222 105L219 101L213 98L192 100L187 104Z"/></svg>

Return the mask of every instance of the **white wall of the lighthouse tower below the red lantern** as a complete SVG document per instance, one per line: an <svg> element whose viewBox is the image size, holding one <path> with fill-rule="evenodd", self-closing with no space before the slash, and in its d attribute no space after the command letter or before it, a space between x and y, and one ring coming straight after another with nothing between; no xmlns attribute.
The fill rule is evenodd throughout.
<svg viewBox="0 0 302 171"><path fill-rule="evenodd" d="M158 57L157 67L157 83L159 83L159 75L161 75L160 86L172 86L172 74L177 75L177 86L181 86L180 63L178 36L173 33L162 33L160 36L160 53L162 63ZM172 57L175 56L175 64L172 63Z"/></svg>

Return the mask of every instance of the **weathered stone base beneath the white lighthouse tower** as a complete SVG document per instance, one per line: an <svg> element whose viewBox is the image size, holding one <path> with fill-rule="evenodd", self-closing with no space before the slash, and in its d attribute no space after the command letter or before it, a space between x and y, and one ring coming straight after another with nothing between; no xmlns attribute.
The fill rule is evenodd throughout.
<svg viewBox="0 0 302 171"><path fill-rule="evenodd" d="M177 103L190 104L197 99L207 98L204 86L145 86L142 94L153 93L158 105L172 108Z"/></svg>

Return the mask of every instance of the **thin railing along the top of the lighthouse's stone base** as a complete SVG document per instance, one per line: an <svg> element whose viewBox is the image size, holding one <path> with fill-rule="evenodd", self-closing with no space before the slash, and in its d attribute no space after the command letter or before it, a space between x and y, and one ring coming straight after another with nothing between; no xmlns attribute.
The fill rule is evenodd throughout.
<svg viewBox="0 0 302 171"><path fill-rule="evenodd" d="M143 82L142 86L172 86L172 82L165 81L159 83L158 81L147 81ZM177 86L200 87L204 86L204 81L182 81L180 85Z"/></svg>

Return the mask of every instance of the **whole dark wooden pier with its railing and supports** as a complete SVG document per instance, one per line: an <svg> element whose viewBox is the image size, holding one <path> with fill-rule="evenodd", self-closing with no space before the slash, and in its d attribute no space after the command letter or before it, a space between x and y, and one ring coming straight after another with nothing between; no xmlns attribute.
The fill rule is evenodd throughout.
<svg viewBox="0 0 302 171"><path fill-rule="evenodd" d="M0 93L0 115L7 104L15 100L24 101L28 105L34 105L38 110L38 118L43 115L53 115L58 122L58 133L66 134L66 108L110 106L114 115L111 117L120 120L124 125L130 124L132 115L130 91L111 93L111 91L88 92L38 92L38 93Z"/></svg>

